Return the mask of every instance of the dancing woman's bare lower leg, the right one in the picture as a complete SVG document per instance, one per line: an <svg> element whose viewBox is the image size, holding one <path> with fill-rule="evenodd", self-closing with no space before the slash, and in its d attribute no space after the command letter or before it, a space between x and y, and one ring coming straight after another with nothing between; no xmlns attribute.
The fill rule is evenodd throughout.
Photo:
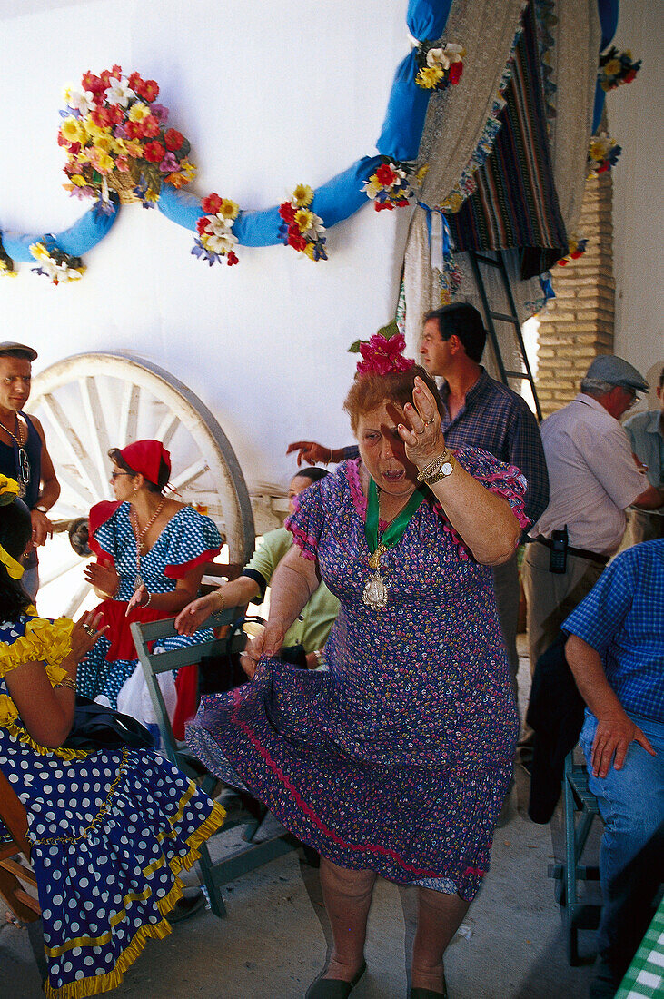
<svg viewBox="0 0 664 999"><path fill-rule="evenodd" d="M417 930L410 984L442 994L442 955L468 911L469 902L430 888L417 889Z"/></svg>

